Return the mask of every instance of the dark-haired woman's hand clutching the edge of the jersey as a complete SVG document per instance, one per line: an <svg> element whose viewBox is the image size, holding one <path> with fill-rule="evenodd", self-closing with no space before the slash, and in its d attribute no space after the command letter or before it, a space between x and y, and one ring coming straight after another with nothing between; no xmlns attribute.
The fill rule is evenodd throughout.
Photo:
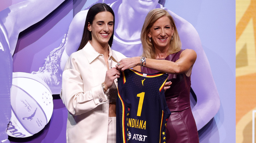
<svg viewBox="0 0 256 143"><path fill-rule="evenodd" d="M120 71L116 67L113 67L106 72L104 81L105 89L108 90L113 85L114 79L119 78Z"/></svg>

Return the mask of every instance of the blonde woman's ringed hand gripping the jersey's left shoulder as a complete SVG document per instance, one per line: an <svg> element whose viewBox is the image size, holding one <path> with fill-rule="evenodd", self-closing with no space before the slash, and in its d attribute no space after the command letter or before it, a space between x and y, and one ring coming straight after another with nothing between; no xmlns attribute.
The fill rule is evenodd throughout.
<svg viewBox="0 0 256 143"><path fill-rule="evenodd" d="M130 69L138 66L140 64L139 61L140 61L139 56L124 58L116 64L116 68L120 71L124 71L126 69Z"/></svg>

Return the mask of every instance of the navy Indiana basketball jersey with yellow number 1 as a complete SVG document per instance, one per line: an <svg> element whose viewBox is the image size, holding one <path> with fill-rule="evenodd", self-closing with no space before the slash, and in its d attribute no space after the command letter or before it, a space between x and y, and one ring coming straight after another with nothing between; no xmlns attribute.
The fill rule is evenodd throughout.
<svg viewBox="0 0 256 143"><path fill-rule="evenodd" d="M171 114L164 96L168 74L127 69L118 79L117 143L165 143Z"/></svg>

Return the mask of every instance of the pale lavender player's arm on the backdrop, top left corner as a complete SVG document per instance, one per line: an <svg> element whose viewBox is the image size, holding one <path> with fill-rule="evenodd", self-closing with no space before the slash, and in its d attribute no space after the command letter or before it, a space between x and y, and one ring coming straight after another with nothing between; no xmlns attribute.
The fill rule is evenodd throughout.
<svg viewBox="0 0 256 143"><path fill-rule="evenodd" d="M14 53L19 33L45 18L63 1L27 0L1 11L0 15L8 15L4 18L4 25L7 29L12 54Z"/></svg>

